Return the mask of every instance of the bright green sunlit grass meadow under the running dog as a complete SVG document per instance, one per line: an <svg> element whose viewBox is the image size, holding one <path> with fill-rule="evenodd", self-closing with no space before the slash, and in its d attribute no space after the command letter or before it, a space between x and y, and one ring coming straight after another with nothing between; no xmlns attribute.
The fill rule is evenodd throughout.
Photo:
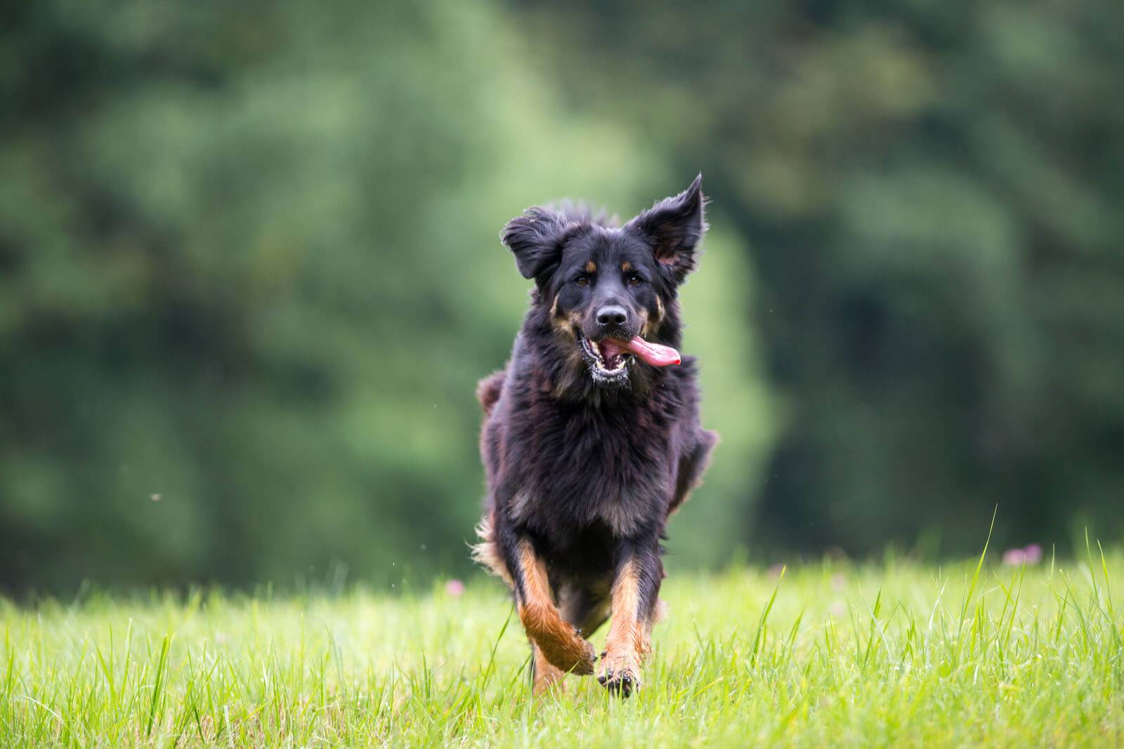
<svg viewBox="0 0 1124 749"><path fill-rule="evenodd" d="M461 596L3 602L0 745L1124 743L1124 556L979 561L673 574L628 701L577 677L533 698L483 578Z"/></svg>

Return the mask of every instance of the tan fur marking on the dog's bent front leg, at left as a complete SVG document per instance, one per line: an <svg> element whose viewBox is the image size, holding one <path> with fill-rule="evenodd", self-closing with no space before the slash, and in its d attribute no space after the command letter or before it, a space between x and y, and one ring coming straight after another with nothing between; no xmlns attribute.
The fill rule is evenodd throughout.
<svg viewBox="0 0 1124 749"><path fill-rule="evenodd" d="M578 637L573 627L562 619L546 578L546 566L528 541L519 542L519 572L523 596L519 601L519 621L531 641L540 647L543 657L564 672L593 673L593 646Z"/></svg>

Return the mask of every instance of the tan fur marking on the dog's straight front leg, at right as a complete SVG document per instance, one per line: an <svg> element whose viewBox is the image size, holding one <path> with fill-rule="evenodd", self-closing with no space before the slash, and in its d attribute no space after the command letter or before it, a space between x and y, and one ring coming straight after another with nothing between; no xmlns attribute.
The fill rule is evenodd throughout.
<svg viewBox="0 0 1124 749"><path fill-rule="evenodd" d="M629 559L613 583L613 624L598 681L627 695L640 687L640 668L651 649L651 625L640 619L640 570Z"/></svg>

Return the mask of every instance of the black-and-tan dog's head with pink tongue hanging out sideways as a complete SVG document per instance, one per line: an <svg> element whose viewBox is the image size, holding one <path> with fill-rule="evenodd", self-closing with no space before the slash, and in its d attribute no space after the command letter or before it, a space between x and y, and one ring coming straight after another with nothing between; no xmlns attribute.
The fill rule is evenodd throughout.
<svg viewBox="0 0 1124 749"><path fill-rule="evenodd" d="M628 384L637 358L679 363L670 312L706 231L701 183L699 175L619 228L535 207L500 235L519 273L535 280L553 342L569 347L596 385Z"/></svg>

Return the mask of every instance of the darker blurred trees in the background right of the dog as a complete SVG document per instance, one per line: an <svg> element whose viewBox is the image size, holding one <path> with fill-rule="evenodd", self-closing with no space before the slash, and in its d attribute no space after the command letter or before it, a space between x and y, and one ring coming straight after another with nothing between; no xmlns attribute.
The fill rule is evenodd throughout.
<svg viewBox="0 0 1124 749"><path fill-rule="evenodd" d="M1121 537L1124 6L519 7L571 106L752 238L785 396L759 544L959 552L996 504L1000 541Z"/></svg>

